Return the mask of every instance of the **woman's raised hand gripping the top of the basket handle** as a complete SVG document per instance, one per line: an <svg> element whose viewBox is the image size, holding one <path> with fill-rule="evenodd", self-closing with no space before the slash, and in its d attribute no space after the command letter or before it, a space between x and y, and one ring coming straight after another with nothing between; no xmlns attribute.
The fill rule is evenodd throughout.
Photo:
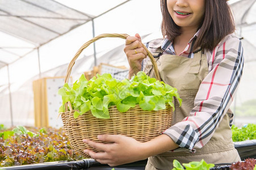
<svg viewBox="0 0 256 170"><path fill-rule="evenodd" d="M141 71L142 60L146 58L146 50L142 47L141 37L138 33L135 36L129 36L125 40L124 52L127 56L130 69L129 78Z"/></svg>

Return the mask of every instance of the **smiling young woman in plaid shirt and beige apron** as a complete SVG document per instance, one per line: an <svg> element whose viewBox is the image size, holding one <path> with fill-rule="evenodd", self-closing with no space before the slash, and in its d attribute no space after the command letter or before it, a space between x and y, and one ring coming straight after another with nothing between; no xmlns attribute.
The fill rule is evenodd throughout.
<svg viewBox="0 0 256 170"><path fill-rule="evenodd" d="M232 163L240 160L232 141L229 107L244 64L241 41L226 0L161 0L163 39L146 45L157 60L163 82L178 89L172 126L149 142L123 135L99 135L84 140L102 152L85 150L111 166L148 158L146 169L170 169L173 160ZM144 70L154 77L138 34L128 37L124 52L129 75Z"/></svg>

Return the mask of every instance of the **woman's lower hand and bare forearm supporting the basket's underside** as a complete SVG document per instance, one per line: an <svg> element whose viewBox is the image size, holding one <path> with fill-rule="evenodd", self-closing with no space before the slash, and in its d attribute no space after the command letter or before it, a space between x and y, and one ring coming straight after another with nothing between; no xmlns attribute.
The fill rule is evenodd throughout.
<svg viewBox="0 0 256 170"><path fill-rule="evenodd" d="M144 160L149 156L161 154L179 147L165 134L159 135L148 142L139 142L124 135L110 134L98 135L98 139L111 143L104 144L83 139L83 142L101 151L85 150L84 152L99 163L108 164L111 167Z"/></svg>

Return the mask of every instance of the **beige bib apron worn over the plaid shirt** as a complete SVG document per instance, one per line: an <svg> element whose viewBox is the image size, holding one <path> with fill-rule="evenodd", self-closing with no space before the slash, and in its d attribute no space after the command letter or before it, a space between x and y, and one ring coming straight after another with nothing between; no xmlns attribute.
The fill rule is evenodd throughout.
<svg viewBox="0 0 256 170"><path fill-rule="evenodd" d="M153 56L159 56L161 52L161 49L158 49L156 53L153 53ZM179 107L177 99L174 101L175 112L173 113L172 122L172 125L174 125L182 121L184 117L187 117L191 109L194 108L194 100L200 83L208 74L207 58L205 54L199 51L194 54L194 58L163 54L160 57L156 57L156 60L163 82L177 88L183 100L181 107ZM144 71L149 76L155 77L151 62L146 63ZM196 149L195 153L187 150L150 156L146 169L170 170L173 168L174 159L177 159L180 163L200 161L202 159L207 163L213 164L239 161L240 156L232 141L228 114L225 114L209 142L202 148Z"/></svg>

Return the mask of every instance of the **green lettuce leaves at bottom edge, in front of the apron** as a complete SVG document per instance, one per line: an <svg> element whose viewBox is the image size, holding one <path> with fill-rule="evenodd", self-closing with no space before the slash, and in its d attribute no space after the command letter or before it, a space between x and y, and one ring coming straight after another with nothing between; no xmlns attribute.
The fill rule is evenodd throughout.
<svg viewBox="0 0 256 170"><path fill-rule="evenodd" d="M203 159L200 162L190 162L182 164L187 170L208 170L209 168L214 167L214 164L207 164ZM183 166L178 160L173 160L173 169L172 170L183 170Z"/></svg>

